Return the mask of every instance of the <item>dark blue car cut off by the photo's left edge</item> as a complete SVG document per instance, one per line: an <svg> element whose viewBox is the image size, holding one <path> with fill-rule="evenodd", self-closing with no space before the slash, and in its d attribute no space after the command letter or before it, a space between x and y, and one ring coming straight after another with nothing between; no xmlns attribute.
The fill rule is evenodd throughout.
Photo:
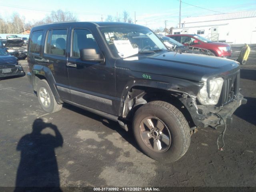
<svg viewBox="0 0 256 192"><path fill-rule="evenodd" d="M25 72L18 59L0 48L0 78L7 76L24 76Z"/></svg>

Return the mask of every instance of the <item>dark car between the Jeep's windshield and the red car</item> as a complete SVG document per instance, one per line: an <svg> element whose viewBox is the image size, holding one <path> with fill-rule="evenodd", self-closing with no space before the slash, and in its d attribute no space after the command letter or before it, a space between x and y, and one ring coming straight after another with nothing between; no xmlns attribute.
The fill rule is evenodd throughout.
<svg viewBox="0 0 256 192"><path fill-rule="evenodd" d="M208 56L214 56L214 54L207 49L185 46L185 45L179 43L178 41L176 41L170 37L163 36L163 35L158 35L158 37L168 48L170 48L170 50L173 50L175 52L194 53L194 54L203 54L203 55L208 55Z"/></svg>

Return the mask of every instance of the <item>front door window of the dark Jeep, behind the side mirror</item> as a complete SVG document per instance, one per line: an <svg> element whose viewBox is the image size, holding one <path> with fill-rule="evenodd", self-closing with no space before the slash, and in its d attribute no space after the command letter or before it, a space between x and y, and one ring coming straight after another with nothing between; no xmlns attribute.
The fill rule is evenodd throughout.
<svg viewBox="0 0 256 192"><path fill-rule="evenodd" d="M72 57L79 58L81 49L96 49L96 52L99 53L98 44L89 30L74 29L72 37Z"/></svg>

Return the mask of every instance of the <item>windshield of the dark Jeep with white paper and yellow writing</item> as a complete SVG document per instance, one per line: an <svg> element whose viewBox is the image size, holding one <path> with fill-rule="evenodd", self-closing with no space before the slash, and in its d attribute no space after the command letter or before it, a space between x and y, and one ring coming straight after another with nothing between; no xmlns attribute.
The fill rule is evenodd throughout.
<svg viewBox="0 0 256 192"><path fill-rule="evenodd" d="M115 57L126 58L136 54L167 50L148 28L109 26L101 27L100 31Z"/></svg>

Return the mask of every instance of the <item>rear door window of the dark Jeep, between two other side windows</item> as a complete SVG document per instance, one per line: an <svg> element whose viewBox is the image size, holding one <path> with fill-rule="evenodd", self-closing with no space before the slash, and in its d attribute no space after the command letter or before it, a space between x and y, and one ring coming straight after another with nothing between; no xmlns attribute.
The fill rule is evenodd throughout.
<svg viewBox="0 0 256 192"><path fill-rule="evenodd" d="M49 30L46 39L45 53L52 55L66 54L67 29Z"/></svg>

